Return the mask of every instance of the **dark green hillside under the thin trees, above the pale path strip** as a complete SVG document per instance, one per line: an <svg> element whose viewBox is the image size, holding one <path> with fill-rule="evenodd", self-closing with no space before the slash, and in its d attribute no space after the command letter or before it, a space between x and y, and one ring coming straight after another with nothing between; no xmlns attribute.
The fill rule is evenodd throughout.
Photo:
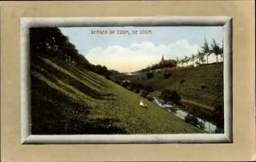
<svg viewBox="0 0 256 162"><path fill-rule="evenodd" d="M159 92L163 89L177 90L184 102L196 102L214 107L223 92L223 63L175 70L167 79L162 73L157 72L151 79L147 79L146 74L127 76L127 78L132 82L151 85Z"/></svg>

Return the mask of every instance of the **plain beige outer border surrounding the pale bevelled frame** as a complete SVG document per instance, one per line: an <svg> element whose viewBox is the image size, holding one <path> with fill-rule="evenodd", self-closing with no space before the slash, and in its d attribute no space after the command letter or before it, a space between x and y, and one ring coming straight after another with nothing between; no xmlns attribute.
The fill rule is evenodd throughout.
<svg viewBox="0 0 256 162"><path fill-rule="evenodd" d="M233 143L140 145L20 144L20 17L231 16ZM215 161L255 158L253 1L4 2L1 6L1 160Z"/></svg>

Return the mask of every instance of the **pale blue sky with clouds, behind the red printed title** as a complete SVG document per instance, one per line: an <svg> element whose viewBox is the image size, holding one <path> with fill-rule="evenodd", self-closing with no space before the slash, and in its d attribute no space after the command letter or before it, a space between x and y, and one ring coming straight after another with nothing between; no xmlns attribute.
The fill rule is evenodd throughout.
<svg viewBox="0 0 256 162"><path fill-rule="evenodd" d="M66 27L60 30L89 62L119 72L138 71L158 63L162 55L164 59L190 57L201 49L204 38L208 43L212 38L219 44L223 40L222 27ZM127 32L120 34L120 30ZM216 56L208 58L208 62L215 61Z"/></svg>

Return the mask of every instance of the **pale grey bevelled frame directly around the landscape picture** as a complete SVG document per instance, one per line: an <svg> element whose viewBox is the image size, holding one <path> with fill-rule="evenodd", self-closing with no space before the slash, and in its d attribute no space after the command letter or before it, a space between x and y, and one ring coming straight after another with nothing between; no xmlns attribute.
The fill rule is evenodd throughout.
<svg viewBox="0 0 256 162"><path fill-rule="evenodd" d="M31 135L29 28L122 26L222 26L224 134ZM20 18L22 144L232 143L232 17L58 17Z"/></svg>

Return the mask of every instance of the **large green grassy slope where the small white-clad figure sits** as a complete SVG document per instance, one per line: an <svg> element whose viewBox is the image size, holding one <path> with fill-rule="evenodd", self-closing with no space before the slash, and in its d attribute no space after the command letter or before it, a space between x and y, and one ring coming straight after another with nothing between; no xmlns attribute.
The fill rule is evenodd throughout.
<svg viewBox="0 0 256 162"><path fill-rule="evenodd" d="M32 134L203 132L100 75L46 56L31 62L31 112Z"/></svg>

